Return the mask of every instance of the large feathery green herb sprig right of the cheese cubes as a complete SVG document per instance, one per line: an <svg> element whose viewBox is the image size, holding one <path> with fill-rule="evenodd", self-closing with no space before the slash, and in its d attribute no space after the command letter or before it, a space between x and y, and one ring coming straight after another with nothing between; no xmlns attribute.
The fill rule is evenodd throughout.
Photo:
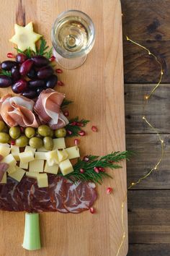
<svg viewBox="0 0 170 256"><path fill-rule="evenodd" d="M111 178L107 174L105 168L121 168L122 166L117 165L116 163L127 159L129 160L130 156L133 155L131 151L115 152L108 155L104 155L99 158L97 155L87 155L86 158L89 158L89 161L84 161L79 159L77 163L73 166L74 171L71 174L67 174L65 177L70 179L71 182L94 182L102 184L104 178ZM94 171L94 167L102 167L104 171L99 171L98 173ZM80 169L84 170L84 173L80 172Z"/></svg>

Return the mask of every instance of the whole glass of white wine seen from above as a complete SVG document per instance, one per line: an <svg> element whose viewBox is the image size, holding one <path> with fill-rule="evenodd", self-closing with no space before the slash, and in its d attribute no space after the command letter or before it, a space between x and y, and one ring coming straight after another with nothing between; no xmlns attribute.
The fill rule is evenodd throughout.
<svg viewBox="0 0 170 256"><path fill-rule="evenodd" d="M86 60L94 46L95 29L91 18L84 12L62 12L52 28L53 55L61 67L76 69Z"/></svg>

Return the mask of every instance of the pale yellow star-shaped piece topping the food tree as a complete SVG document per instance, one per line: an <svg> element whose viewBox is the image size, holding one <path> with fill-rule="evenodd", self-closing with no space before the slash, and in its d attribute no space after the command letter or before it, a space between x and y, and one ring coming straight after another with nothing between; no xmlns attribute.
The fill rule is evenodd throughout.
<svg viewBox="0 0 170 256"><path fill-rule="evenodd" d="M14 25L15 34L10 42L17 44L17 47L25 51L27 48L31 48L32 51L36 51L35 42L40 39L42 35L39 35L33 31L32 22L28 23L25 27Z"/></svg>

